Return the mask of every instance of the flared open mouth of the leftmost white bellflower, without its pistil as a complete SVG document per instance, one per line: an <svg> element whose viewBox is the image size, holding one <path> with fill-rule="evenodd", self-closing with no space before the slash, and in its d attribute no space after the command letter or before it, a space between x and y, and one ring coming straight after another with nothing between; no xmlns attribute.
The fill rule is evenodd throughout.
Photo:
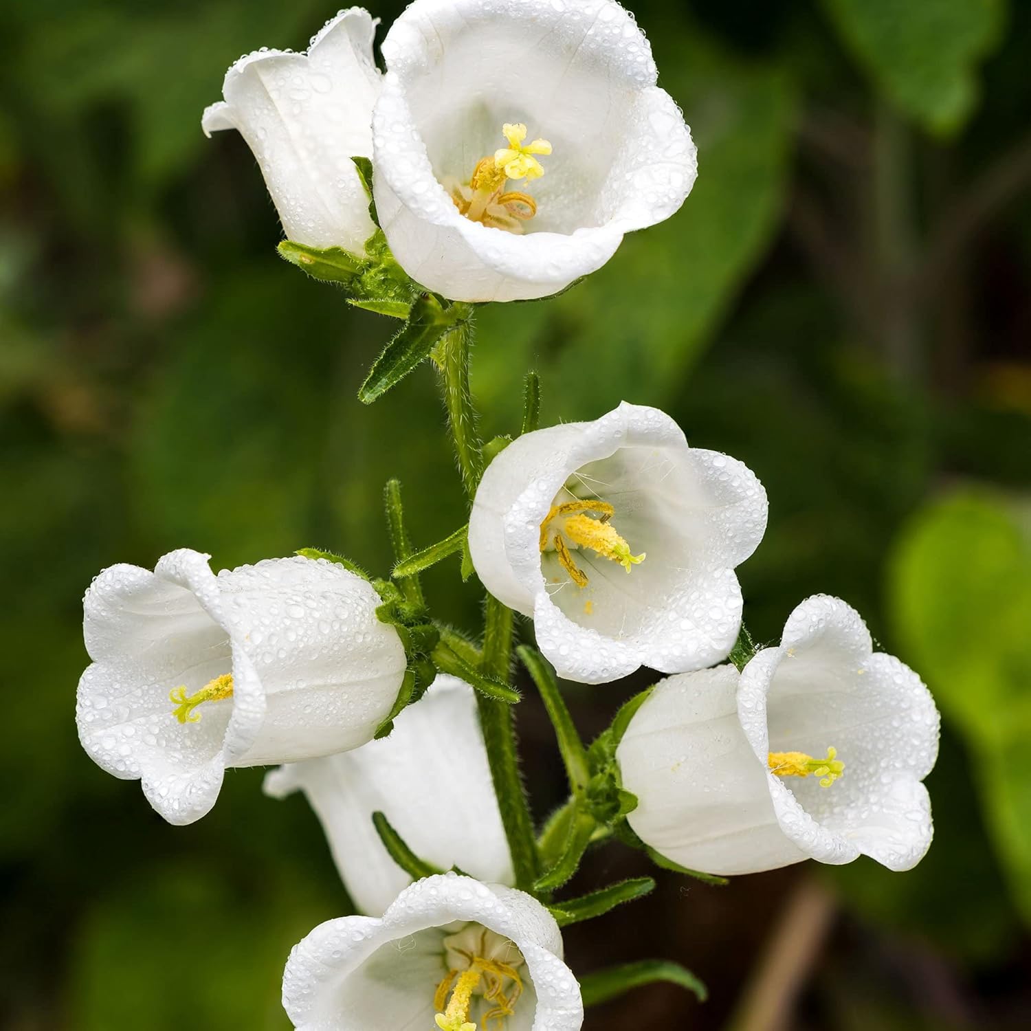
<svg viewBox="0 0 1031 1031"><path fill-rule="evenodd" d="M155 572L112 566L84 599L87 650L96 661L79 680L76 723L90 757L115 776L142 780L151 804L185 824L213 805L223 770L250 747L264 717L254 669L223 625L207 556L172 552ZM179 724L169 693L188 693L226 672L234 701L205 705Z"/></svg>

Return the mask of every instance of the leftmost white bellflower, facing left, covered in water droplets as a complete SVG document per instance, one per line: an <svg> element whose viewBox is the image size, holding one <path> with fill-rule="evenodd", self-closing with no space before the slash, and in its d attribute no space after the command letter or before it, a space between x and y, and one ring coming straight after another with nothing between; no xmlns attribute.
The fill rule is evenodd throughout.
<svg viewBox="0 0 1031 1031"><path fill-rule="evenodd" d="M378 595L342 566L269 559L215 575L207 560L184 548L154 572L111 566L84 599L79 739L172 824L211 808L226 767L370 740L406 664Z"/></svg>

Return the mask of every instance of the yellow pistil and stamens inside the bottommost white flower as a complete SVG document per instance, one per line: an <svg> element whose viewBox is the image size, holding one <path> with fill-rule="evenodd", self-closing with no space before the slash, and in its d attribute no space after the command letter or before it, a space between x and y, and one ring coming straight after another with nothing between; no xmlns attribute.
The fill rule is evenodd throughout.
<svg viewBox="0 0 1031 1031"><path fill-rule="evenodd" d="M519 950L507 938L474 924L444 938L444 944L448 970L433 996L436 1026L440 1031L476 1031L469 1017L478 995L490 1004L480 1018L484 1031L501 1031L523 994ZM499 953L512 962L504 962Z"/></svg>

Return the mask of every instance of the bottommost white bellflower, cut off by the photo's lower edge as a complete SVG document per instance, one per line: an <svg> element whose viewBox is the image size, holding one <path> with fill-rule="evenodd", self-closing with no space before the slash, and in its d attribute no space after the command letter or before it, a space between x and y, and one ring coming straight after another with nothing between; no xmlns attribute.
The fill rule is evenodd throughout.
<svg viewBox="0 0 1031 1031"><path fill-rule="evenodd" d="M317 927L290 954L282 1004L298 1031L576 1031L584 1021L552 914L514 888L455 873L417 880L381 918Z"/></svg>

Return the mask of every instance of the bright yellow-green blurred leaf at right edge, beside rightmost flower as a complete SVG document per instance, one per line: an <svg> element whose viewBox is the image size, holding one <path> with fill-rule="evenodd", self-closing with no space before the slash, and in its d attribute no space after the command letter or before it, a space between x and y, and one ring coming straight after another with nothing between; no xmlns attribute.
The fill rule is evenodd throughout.
<svg viewBox="0 0 1031 1031"><path fill-rule="evenodd" d="M1010 891L1031 921L1031 546L1006 507L957 494L903 534L892 599L905 655L963 732Z"/></svg>

